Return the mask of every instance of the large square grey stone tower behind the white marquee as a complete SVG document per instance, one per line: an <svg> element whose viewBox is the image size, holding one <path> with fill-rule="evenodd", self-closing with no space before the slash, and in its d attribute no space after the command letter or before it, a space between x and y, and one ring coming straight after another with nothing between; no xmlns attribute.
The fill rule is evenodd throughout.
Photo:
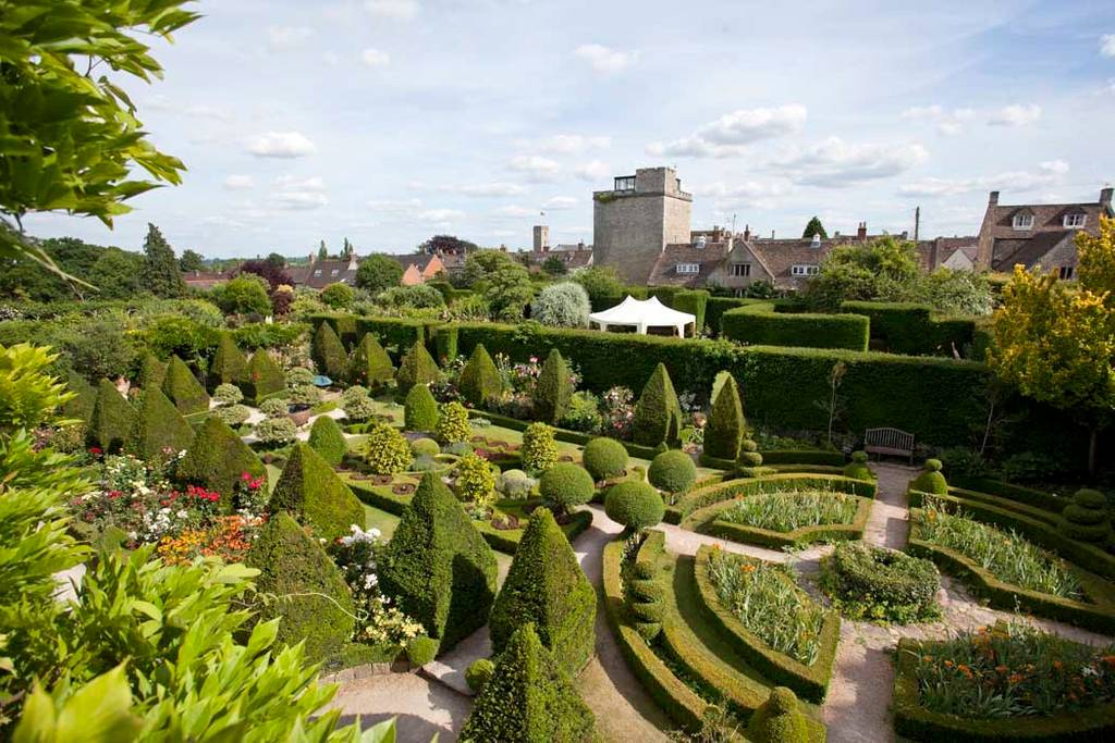
<svg viewBox="0 0 1115 743"><path fill-rule="evenodd" d="M646 284L667 245L689 243L694 199L673 168L639 168L592 201L593 263L628 283Z"/></svg>

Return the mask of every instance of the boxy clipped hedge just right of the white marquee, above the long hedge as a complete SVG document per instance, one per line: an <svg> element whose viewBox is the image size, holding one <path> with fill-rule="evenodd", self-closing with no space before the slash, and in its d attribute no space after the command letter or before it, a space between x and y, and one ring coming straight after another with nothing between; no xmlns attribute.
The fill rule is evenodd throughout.
<svg viewBox="0 0 1115 743"><path fill-rule="evenodd" d="M774 302L749 304L720 317L724 338L750 345L866 351L871 322L863 315L778 312Z"/></svg>

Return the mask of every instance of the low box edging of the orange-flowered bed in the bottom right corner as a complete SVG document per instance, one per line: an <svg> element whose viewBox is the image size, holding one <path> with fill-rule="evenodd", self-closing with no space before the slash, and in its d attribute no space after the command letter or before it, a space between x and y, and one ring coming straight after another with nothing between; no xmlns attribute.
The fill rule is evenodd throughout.
<svg viewBox="0 0 1115 743"><path fill-rule="evenodd" d="M1115 736L1115 702L1075 710L1048 717L967 718L927 710L918 693L914 675L923 654L935 655L938 643L918 642L909 637L899 641L894 656L894 730L904 737L933 743L954 741L1028 741L1029 743L1064 743L1066 741L1106 741Z"/></svg>

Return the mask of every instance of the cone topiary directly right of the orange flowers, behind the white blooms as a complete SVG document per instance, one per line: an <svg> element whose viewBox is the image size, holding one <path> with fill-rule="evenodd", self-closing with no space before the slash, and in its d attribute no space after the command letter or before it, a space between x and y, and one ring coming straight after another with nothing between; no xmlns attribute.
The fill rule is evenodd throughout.
<svg viewBox="0 0 1115 743"><path fill-rule="evenodd" d="M327 540L342 537L352 525L363 528L363 506L321 454L298 441L268 502L272 514L287 511Z"/></svg>

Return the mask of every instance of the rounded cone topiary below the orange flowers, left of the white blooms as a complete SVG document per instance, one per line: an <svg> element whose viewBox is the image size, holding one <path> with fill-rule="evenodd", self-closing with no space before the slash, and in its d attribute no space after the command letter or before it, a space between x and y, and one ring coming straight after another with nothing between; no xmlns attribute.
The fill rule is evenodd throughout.
<svg viewBox="0 0 1115 743"><path fill-rule="evenodd" d="M306 658L319 663L337 653L356 624L352 594L317 538L287 514L273 515L244 558L260 571L255 588L275 598L256 607L256 620L281 617L278 639L306 642Z"/></svg>

